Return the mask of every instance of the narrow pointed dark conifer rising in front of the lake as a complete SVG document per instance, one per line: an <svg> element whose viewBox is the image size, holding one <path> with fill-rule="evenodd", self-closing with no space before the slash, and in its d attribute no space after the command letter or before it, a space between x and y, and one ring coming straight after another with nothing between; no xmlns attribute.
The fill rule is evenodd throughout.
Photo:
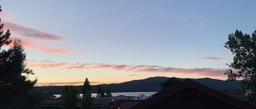
<svg viewBox="0 0 256 109"><path fill-rule="evenodd" d="M90 81L86 78L84 86L82 88L82 108L83 109L93 109L93 99L91 93Z"/></svg>

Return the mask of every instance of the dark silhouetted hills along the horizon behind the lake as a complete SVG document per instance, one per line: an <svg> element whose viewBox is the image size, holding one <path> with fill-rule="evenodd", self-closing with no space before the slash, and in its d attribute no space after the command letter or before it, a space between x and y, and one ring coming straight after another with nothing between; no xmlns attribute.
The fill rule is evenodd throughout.
<svg viewBox="0 0 256 109"><path fill-rule="evenodd" d="M101 87L106 91L108 87L111 92L157 92L161 90L159 84L168 80L166 77L153 77L143 80L133 80L128 82L123 82L121 84L103 84ZM179 78L177 78L179 79ZM179 79L183 81L184 79ZM200 84L211 87L213 89L241 89L241 81L222 81L210 78L204 79L193 79ZM75 86L82 91L82 86ZM45 86L45 87L35 87L36 89L50 90L53 94L62 94L64 86ZM92 86L92 93L96 93L98 90L98 85Z"/></svg>

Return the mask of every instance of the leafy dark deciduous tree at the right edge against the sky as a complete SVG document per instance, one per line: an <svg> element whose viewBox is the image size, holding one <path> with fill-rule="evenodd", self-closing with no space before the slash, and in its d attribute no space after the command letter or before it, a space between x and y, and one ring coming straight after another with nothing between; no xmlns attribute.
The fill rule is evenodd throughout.
<svg viewBox="0 0 256 109"><path fill-rule="evenodd" d="M252 92L248 95L250 104L256 106L256 30L252 35L236 30L235 34L229 34L224 47L234 55L233 62L227 64L231 69L225 74L229 80L242 79L243 88ZM236 71L233 72L232 69Z"/></svg>

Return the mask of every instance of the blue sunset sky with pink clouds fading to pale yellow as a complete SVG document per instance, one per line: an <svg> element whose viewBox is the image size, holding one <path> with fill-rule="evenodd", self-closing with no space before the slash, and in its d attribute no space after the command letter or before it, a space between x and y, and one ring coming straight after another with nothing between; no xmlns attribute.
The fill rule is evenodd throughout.
<svg viewBox="0 0 256 109"><path fill-rule="evenodd" d="M2 1L4 29L20 39L37 86L121 83L154 76L212 78L233 61L236 29L256 30L247 1Z"/></svg>

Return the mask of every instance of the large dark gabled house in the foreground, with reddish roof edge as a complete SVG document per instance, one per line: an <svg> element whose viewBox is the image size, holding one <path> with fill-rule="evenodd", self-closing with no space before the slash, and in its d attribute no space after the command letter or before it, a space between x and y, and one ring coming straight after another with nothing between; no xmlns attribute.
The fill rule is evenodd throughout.
<svg viewBox="0 0 256 109"><path fill-rule="evenodd" d="M197 109L255 109L255 107L216 91L193 80L179 81L171 78L160 84L163 90L130 109L197 108Z"/></svg>

